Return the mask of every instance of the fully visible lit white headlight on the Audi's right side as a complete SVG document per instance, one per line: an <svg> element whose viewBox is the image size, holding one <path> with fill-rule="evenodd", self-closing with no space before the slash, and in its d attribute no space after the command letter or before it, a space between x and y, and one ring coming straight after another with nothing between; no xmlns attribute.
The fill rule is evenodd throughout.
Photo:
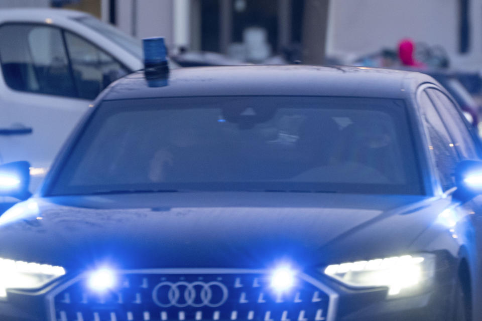
<svg viewBox="0 0 482 321"><path fill-rule="evenodd" d="M413 293L428 286L435 273L432 254L404 255L329 265L323 272L351 287L389 288L388 295Z"/></svg>

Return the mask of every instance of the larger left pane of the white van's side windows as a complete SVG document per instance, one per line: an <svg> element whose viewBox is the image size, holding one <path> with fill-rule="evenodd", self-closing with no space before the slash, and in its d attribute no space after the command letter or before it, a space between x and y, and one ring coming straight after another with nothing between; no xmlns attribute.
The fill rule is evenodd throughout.
<svg viewBox="0 0 482 321"><path fill-rule="evenodd" d="M77 96L58 28L27 24L0 27L0 60L12 89Z"/></svg>

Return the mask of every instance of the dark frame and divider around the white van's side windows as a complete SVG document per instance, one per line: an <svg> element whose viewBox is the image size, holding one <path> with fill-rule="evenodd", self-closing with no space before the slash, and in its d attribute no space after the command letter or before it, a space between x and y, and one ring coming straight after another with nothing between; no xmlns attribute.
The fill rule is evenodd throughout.
<svg viewBox="0 0 482 321"><path fill-rule="evenodd" d="M80 35L79 33L71 30L71 29L68 29L68 28L65 28L63 26L58 26L58 25L54 25L54 24L47 24L47 23L39 23L39 22L30 22L30 21L14 21L14 22L4 22L2 24L0 24L0 29L2 27L5 27L5 26L12 26L12 25L21 25L21 26L39 26L39 27L49 27L49 28L56 28L57 30L60 31L61 33L61 36L62 36L62 42L63 42L63 47L64 47L64 50L66 52L66 56L67 56L67 60L68 60L68 69L69 69L69 73L70 73L70 78L71 78L71 81L73 82L73 87L75 88L75 91L76 91L76 96L68 96L68 95L53 95L53 94L45 94L45 93L37 93L37 92L32 92L32 91L27 91L27 90L18 90L18 89L15 89L15 88L12 88L8 85L7 81L5 80L5 75L4 75L4 71L3 71L3 68L2 68L2 78L4 80L4 83L5 83L5 86L7 88L9 88L10 90L12 91L15 91L15 92L21 92L21 93L28 93L28 94L36 94L36 95L46 95L46 96L53 96L53 97L59 97L59 98L68 98L68 99L80 99L80 100L88 100L88 101L91 101L90 99L86 99L86 98L82 98L80 97L80 94L79 94L79 90L77 88L77 85L75 84L75 81L74 81L74 74L73 74L73 69L72 69L72 61L70 60L70 52L68 50L68 47L67 47L67 42L66 42L66 39L65 39L65 32L69 32L71 34L73 34L74 36L77 36L79 37L80 39L82 39L83 41L87 42L88 44L90 44L91 46L93 46L95 49L103 52L105 55L108 55L109 57L112 57L112 60L114 60L115 62L117 62L122 68L125 68L127 71L128 71L128 74L129 73L132 73L134 72L134 70L132 70L131 68L129 68L126 64L124 64L122 61L119 61L116 57L114 57L113 55L111 55L110 53L106 52L103 48L101 48L99 45L93 43L92 41L90 41L89 39L87 39L86 37ZM29 47L29 55L31 55L32 53L30 52L31 49ZM3 62L2 62L2 57L0 56L0 65L3 67Z"/></svg>

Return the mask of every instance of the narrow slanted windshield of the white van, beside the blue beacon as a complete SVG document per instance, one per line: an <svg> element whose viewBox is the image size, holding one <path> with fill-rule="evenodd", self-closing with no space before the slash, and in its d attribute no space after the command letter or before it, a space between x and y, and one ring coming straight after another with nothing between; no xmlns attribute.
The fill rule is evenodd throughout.
<svg viewBox="0 0 482 321"><path fill-rule="evenodd" d="M104 35L106 38L112 40L118 46L124 48L126 51L130 52L139 60L143 59L142 43L140 40L133 38L125 33L117 30L116 28L104 24L103 22L93 18L93 17L81 17L75 18L78 22L84 24L90 29Z"/></svg>

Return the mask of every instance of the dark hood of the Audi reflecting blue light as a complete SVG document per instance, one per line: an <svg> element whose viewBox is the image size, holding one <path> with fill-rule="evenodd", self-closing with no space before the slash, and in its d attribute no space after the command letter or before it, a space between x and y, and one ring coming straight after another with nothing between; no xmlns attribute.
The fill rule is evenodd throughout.
<svg viewBox="0 0 482 321"><path fill-rule="evenodd" d="M32 198L0 217L0 257L68 269L316 266L404 253L427 227L426 203L318 193Z"/></svg>

